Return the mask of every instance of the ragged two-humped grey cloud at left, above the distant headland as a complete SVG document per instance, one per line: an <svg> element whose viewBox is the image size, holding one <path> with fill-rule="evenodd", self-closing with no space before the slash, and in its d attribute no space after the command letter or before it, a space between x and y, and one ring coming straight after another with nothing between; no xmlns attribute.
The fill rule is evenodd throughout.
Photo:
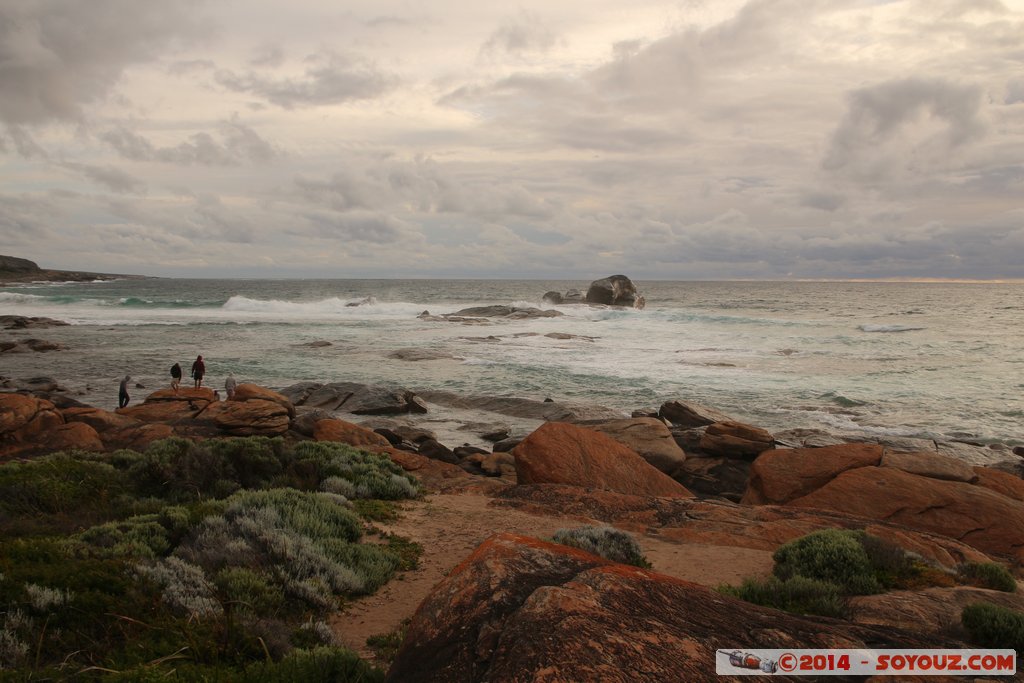
<svg viewBox="0 0 1024 683"><path fill-rule="evenodd" d="M99 134L101 140L130 161L183 166L239 166L245 163L267 163L283 154L238 119L222 121L218 126L217 136L219 140L210 133L195 133L186 141L174 146L158 147L124 126Z"/></svg>

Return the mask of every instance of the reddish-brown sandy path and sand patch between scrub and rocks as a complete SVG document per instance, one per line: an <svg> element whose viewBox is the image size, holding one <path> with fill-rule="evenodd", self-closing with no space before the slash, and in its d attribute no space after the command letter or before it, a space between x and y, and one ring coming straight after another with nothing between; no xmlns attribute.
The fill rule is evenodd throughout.
<svg viewBox="0 0 1024 683"><path fill-rule="evenodd" d="M382 529L423 546L419 568L397 574L374 595L355 600L334 615L331 626L345 646L373 660L367 638L389 633L412 616L430 589L487 537L511 531L550 538L559 528L595 523L566 516L535 515L490 505L480 494L434 494L402 506L401 518ZM655 571L705 586L738 584L743 578L771 570L771 553L763 550L679 544L651 536L637 541Z"/></svg>

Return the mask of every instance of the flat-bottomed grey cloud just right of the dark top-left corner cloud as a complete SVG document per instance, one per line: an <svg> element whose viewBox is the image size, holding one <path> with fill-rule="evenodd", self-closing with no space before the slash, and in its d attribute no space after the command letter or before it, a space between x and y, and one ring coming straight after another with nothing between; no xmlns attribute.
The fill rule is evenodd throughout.
<svg viewBox="0 0 1024 683"><path fill-rule="evenodd" d="M262 97L284 109L338 104L372 99L391 90L397 79L367 62L329 52L306 59L310 66L301 78L275 78L249 72L218 71L217 82L233 92Z"/></svg>

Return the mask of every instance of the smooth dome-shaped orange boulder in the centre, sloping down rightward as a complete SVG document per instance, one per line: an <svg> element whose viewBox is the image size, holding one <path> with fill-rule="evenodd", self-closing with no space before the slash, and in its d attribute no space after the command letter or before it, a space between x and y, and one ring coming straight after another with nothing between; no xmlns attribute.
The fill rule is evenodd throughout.
<svg viewBox="0 0 1024 683"><path fill-rule="evenodd" d="M512 455L519 483L564 483L637 496L692 496L633 450L577 425L542 425Z"/></svg>

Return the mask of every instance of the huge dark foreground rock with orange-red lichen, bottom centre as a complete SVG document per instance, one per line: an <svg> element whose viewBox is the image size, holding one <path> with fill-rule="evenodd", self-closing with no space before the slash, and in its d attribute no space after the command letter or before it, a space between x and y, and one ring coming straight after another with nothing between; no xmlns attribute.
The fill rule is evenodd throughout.
<svg viewBox="0 0 1024 683"><path fill-rule="evenodd" d="M720 648L941 645L950 643L794 616L574 548L502 533L420 604L386 680L719 681Z"/></svg>

